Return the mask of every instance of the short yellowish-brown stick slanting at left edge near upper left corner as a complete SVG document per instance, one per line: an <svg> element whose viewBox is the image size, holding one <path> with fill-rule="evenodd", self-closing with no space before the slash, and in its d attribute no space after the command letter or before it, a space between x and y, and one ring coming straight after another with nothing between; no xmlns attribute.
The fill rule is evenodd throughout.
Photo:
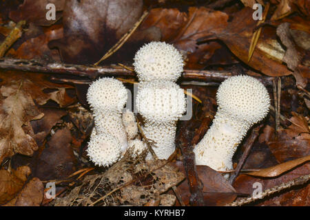
<svg viewBox="0 0 310 220"><path fill-rule="evenodd" d="M21 37L21 34L23 34L23 25L25 25L25 21L19 21L19 23L17 23L17 25L12 29L10 34L0 45L0 57L3 57L8 49L13 45L13 43L15 43L15 41Z"/></svg>

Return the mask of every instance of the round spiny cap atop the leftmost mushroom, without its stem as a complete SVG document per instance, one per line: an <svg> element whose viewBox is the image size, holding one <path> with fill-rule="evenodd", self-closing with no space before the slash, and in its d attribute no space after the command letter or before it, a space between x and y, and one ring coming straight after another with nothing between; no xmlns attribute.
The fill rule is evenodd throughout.
<svg viewBox="0 0 310 220"><path fill-rule="evenodd" d="M99 78L87 90L87 102L96 111L121 111L127 101L127 90L115 78Z"/></svg>

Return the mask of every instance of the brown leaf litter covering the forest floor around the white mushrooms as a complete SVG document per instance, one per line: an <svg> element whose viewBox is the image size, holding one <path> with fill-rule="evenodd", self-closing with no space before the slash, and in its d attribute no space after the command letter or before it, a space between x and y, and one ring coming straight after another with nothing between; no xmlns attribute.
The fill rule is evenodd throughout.
<svg viewBox="0 0 310 220"><path fill-rule="evenodd" d="M115 7L112 1L55 0L55 21L44 19L46 2L0 2L0 43L8 39L16 23L26 23L23 34L10 42L12 47L5 54L5 58L16 59L14 65L3 69L0 60L0 205L225 206L251 202L255 206L309 206L307 1L271 1L260 23L249 17L254 3L266 8L262 1L132 0L123 8L122 0ZM191 120L178 123L173 158L149 162L144 155L134 159L127 153L110 168L96 168L85 151L93 126L85 93L94 77L74 71L87 72L149 5L147 16L129 39L101 63L108 65L105 74L114 76L111 63L131 69L134 53L143 43L172 43L182 52L185 67L196 73L179 83L193 89L200 102L193 100ZM23 66L28 61L21 59L37 60L32 67L58 69L53 69L54 74L29 73ZM51 65L61 62L65 70ZM69 64L80 66L70 69ZM210 71L224 74L214 77ZM245 166L230 184L222 173L196 166L192 146L211 125L219 83L236 74L265 82L271 103L280 103L280 111L271 109L262 122ZM132 73L116 76L124 82L136 80ZM276 91L281 96L272 96L276 77L282 81ZM125 85L133 89L130 83ZM280 126L275 129L279 118ZM234 168L245 148L240 144ZM43 195L44 184L51 180L56 182L54 200ZM251 197L255 182L265 190L258 200Z"/></svg>

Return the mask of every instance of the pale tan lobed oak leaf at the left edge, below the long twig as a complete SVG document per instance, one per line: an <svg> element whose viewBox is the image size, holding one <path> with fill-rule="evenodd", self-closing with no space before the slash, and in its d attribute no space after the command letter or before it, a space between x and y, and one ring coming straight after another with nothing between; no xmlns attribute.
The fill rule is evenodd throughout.
<svg viewBox="0 0 310 220"><path fill-rule="evenodd" d="M0 76L0 162L15 153L32 155L37 150L30 125L31 120L43 117L37 104L45 104L51 99L62 107L74 102L66 94L65 87L43 81L38 74L10 74L12 72L1 73ZM56 91L45 93L43 89L47 88Z"/></svg>

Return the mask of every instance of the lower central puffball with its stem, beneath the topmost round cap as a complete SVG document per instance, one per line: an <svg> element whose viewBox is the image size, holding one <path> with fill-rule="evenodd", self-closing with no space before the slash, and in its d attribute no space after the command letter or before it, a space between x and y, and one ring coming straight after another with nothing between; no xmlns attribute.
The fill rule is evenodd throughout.
<svg viewBox="0 0 310 220"><path fill-rule="evenodd" d="M136 109L143 116L145 136L156 142L153 149L158 159L174 153L176 122L185 112L185 103L184 91L176 83L154 80L138 85Z"/></svg>

